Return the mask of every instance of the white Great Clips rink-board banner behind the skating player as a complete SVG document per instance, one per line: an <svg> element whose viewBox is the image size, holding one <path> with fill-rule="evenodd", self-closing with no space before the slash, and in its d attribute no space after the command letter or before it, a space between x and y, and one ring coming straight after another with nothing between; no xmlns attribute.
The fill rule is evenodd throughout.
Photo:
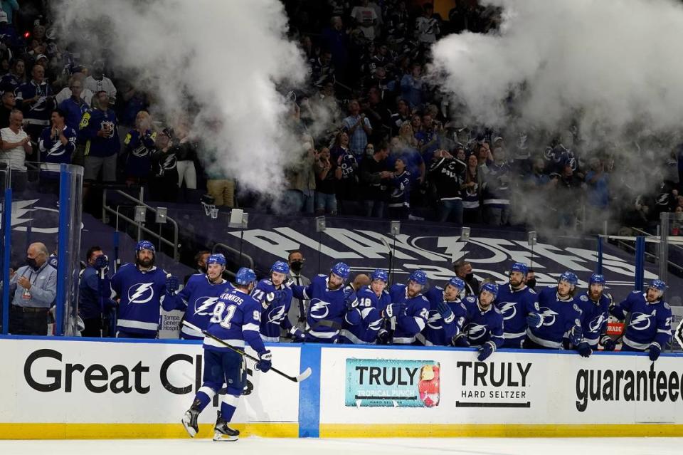
<svg viewBox="0 0 683 455"><path fill-rule="evenodd" d="M0 422L178 423L201 386L198 342L0 340ZM298 371L300 350L270 346L273 363ZM252 352L253 353L253 352ZM234 422L297 422L299 387L247 361L247 385ZM218 396L201 423L216 422ZM38 412L38 408L40 409Z"/></svg>

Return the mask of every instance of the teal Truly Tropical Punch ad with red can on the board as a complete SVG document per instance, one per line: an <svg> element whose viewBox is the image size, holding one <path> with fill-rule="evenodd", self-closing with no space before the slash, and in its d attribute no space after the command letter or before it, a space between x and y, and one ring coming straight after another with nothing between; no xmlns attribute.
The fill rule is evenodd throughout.
<svg viewBox="0 0 683 455"><path fill-rule="evenodd" d="M441 367L433 360L346 359L347 407L436 407Z"/></svg>

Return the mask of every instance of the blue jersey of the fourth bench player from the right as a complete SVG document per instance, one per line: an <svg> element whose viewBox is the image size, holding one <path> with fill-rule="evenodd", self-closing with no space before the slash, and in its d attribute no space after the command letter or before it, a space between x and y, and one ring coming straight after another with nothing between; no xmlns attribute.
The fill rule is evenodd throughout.
<svg viewBox="0 0 683 455"><path fill-rule="evenodd" d="M531 288L512 289L507 284L498 287L494 305L503 315L504 347L521 347L526 335L526 316L539 313L538 294Z"/></svg>

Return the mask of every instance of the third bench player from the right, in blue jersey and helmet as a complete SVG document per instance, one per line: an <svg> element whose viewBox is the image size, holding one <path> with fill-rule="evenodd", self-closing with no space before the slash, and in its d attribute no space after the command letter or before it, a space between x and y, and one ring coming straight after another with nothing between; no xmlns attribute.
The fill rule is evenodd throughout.
<svg viewBox="0 0 683 455"><path fill-rule="evenodd" d="M578 278L575 273L562 273L557 286L545 288L539 293L539 312L543 325L526 329L525 349L562 350L563 339L578 346L583 338L581 308L574 303L572 292Z"/></svg>

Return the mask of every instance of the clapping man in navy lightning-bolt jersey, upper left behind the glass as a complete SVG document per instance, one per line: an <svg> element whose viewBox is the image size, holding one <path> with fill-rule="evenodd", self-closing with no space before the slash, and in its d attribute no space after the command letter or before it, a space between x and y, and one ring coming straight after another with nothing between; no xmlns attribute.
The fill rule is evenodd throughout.
<svg viewBox="0 0 683 455"><path fill-rule="evenodd" d="M76 150L76 132L65 122L65 113L55 109L51 125L46 127L38 140L41 152L41 191L59 194L60 164L70 164Z"/></svg>

